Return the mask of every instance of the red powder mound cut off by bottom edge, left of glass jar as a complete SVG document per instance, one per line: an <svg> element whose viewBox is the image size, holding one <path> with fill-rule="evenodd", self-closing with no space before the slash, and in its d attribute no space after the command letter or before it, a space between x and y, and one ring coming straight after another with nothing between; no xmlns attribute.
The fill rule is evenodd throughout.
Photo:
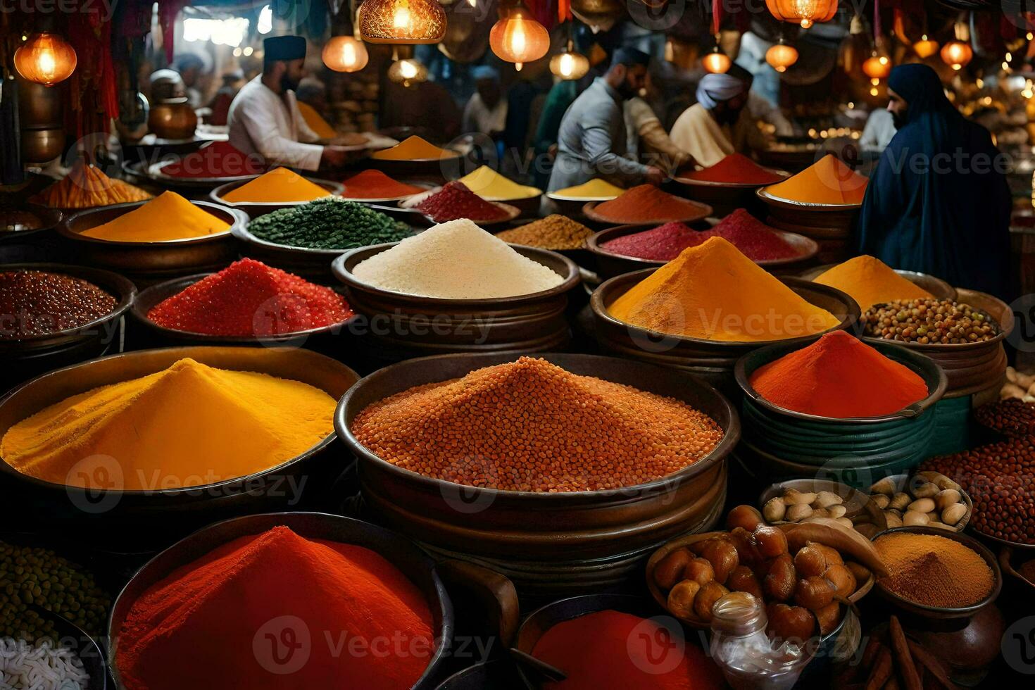
<svg viewBox="0 0 1035 690"><path fill-rule="evenodd" d="M722 672L700 648L651 619L615 610L587 613L543 633L533 656L567 676L558 690L718 690Z"/></svg>

